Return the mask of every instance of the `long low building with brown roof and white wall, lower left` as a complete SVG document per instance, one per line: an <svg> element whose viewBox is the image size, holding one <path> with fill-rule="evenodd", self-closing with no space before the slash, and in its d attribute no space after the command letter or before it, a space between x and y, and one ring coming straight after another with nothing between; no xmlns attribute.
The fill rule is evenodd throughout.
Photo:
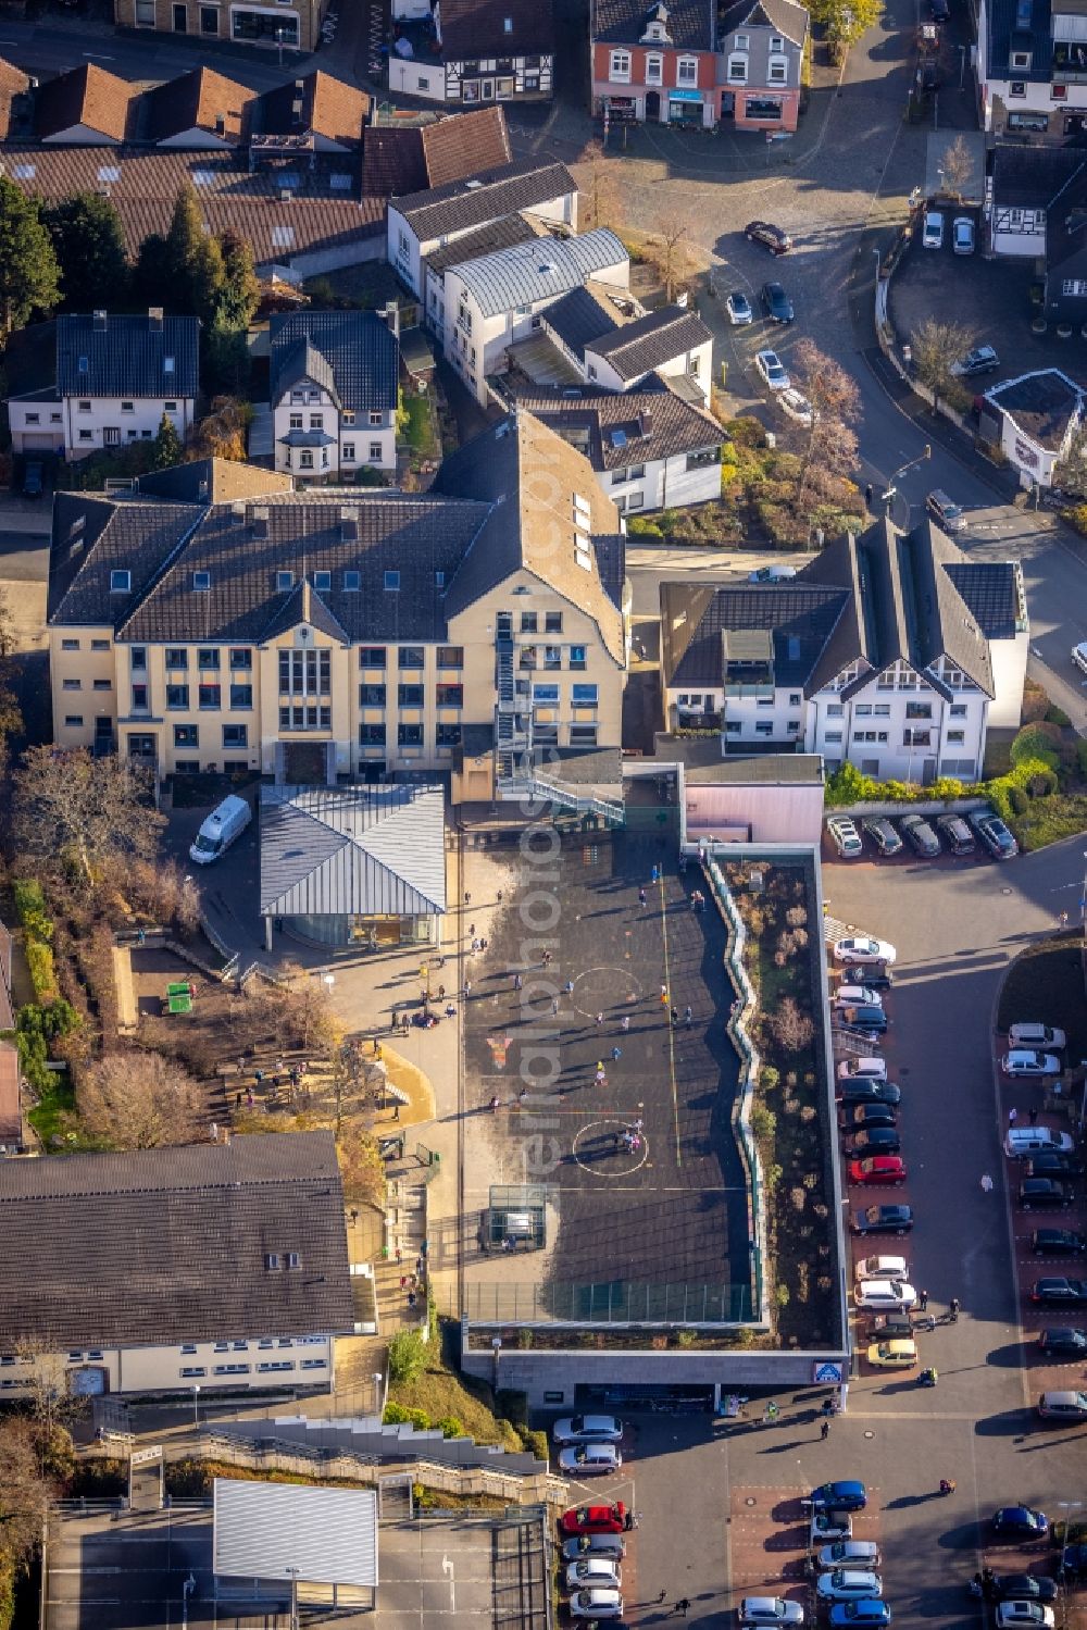
<svg viewBox="0 0 1087 1630"><path fill-rule="evenodd" d="M331 1131L0 1161L0 1216L10 1397L331 1390L355 1325Z"/></svg>

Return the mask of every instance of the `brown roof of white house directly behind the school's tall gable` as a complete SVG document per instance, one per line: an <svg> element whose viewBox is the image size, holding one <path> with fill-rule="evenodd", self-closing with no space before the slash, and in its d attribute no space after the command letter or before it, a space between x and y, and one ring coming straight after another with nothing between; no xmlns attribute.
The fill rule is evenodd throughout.
<svg viewBox="0 0 1087 1630"><path fill-rule="evenodd" d="M650 390L583 391L575 399L539 391L518 396L518 406L585 452L596 471L701 452L725 440L711 414L684 403L657 377Z"/></svg>

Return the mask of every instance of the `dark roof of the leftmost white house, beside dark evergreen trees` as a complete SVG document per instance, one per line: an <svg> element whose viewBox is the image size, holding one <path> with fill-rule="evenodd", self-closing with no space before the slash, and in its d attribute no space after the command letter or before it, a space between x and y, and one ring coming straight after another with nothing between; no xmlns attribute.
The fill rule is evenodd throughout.
<svg viewBox="0 0 1087 1630"><path fill-rule="evenodd" d="M57 390L62 396L196 396L200 324L194 316L108 313L57 318Z"/></svg>

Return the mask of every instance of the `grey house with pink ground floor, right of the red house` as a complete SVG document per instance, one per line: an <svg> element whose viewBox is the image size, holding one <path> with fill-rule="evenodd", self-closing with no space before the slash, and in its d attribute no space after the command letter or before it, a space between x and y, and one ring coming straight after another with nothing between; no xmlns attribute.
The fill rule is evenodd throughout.
<svg viewBox="0 0 1087 1630"><path fill-rule="evenodd" d="M737 130L795 130L808 13L795 0L737 0L717 21L720 117Z"/></svg>

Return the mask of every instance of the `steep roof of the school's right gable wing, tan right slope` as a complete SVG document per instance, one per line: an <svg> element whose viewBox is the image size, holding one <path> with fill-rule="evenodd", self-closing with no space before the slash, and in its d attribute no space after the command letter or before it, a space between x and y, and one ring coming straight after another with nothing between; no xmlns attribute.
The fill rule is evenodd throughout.
<svg viewBox="0 0 1087 1630"><path fill-rule="evenodd" d="M605 650L623 662L619 513L580 453L518 409L451 453L430 491L494 505L450 585L448 616L525 569L580 606ZM592 540L590 549L575 548L579 535Z"/></svg>

